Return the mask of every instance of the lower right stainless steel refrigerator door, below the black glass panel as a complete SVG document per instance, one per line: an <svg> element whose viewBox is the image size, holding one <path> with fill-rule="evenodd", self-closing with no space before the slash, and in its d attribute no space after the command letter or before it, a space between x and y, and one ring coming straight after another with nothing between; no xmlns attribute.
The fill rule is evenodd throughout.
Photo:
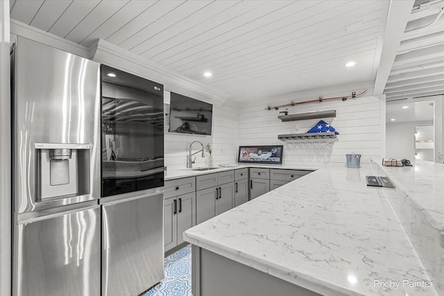
<svg viewBox="0 0 444 296"><path fill-rule="evenodd" d="M102 204L102 295L139 295L164 278L163 193Z"/></svg>

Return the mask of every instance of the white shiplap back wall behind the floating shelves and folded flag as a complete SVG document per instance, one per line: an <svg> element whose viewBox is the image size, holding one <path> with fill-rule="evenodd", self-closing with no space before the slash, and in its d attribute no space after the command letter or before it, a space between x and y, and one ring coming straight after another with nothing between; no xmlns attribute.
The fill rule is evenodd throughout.
<svg viewBox="0 0 444 296"><path fill-rule="evenodd" d="M350 92L351 93L351 92ZM341 96L346 92L323 93L324 97ZM371 94L371 92L370 92ZM290 101L304 101L316 98L313 94L302 96L293 95L275 99L273 101L248 102L239 104L238 110L238 139L239 145L255 144L282 144L278 134L307 132L321 119L304 121L282 122L278 119L280 110L265 110L267 105L282 105ZM336 118L324 119L340 133L338 141L331 147L300 141L284 142L284 165L298 165L303 163L345 163L345 154L361 154L361 162L368 163L370 158L381 157L381 147L384 135L385 102L379 96L363 96L348 99L343 102L325 101L323 103L309 103L289 107L289 114L312 112L318 110L336 110Z"/></svg>

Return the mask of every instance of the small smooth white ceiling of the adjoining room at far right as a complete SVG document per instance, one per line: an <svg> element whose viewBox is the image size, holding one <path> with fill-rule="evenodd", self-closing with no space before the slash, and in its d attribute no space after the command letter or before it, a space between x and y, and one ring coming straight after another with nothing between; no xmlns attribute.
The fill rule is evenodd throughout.
<svg viewBox="0 0 444 296"><path fill-rule="evenodd" d="M407 108L402 108L407 107ZM395 121L391 121L395 119ZM418 122L434 120L433 101L406 101L388 102L386 105L386 123Z"/></svg>

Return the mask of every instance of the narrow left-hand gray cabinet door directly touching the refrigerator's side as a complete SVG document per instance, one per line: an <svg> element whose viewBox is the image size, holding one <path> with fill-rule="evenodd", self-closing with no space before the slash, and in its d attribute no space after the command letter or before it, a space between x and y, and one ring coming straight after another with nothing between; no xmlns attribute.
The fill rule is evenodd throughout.
<svg viewBox="0 0 444 296"><path fill-rule="evenodd" d="M165 252L178 245L177 199L168 198L164 202L164 245Z"/></svg>

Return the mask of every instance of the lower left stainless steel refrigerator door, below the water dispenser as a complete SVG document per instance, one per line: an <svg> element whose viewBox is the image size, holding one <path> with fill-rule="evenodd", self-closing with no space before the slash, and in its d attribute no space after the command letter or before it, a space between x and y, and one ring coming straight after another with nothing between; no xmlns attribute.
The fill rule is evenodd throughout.
<svg viewBox="0 0 444 296"><path fill-rule="evenodd" d="M21 222L13 295L100 295L100 206Z"/></svg>

